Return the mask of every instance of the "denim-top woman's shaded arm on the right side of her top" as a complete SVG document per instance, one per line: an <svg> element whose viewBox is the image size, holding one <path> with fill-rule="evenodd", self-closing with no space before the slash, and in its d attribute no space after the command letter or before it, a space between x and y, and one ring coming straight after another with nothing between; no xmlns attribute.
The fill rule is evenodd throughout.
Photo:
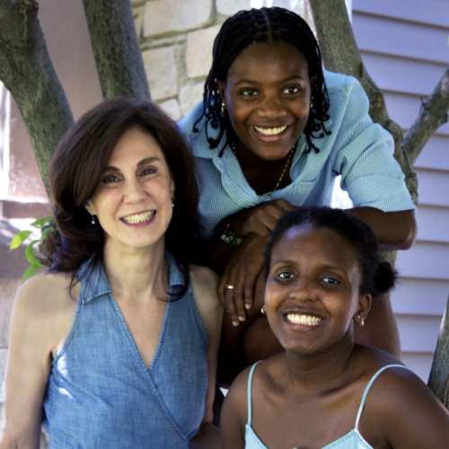
<svg viewBox="0 0 449 449"><path fill-rule="evenodd" d="M212 424L212 406L216 392L216 365L223 321L223 307L216 295L218 277L211 269L194 265L190 266L190 277L198 312L207 331L209 346L207 350L208 381L205 412L201 427L199 427L197 435L190 440L189 447L192 449L219 449L221 448L220 430Z"/></svg>

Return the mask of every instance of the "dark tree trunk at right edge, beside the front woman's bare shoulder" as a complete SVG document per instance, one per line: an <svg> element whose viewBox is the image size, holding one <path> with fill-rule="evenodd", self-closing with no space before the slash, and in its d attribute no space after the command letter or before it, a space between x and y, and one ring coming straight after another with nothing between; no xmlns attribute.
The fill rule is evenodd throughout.
<svg viewBox="0 0 449 449"><path fill-rule="evenodd" d="M436 351L432 369L428 379L428 386L436 397L449 409L449 299L446 305L445 315L441 322L440 334L436 343Z"/></svg>

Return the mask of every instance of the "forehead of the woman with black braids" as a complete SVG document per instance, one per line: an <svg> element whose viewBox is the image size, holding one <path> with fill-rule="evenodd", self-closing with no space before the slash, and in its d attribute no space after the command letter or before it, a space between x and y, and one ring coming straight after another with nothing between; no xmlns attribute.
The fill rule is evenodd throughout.
<svg viewBox="0 0 449 449"><path fill-rule="evenodd" d="M261 68L263 70L260 70ZM244 77L248 73L267 75L269 69L285 71L288 75L300 73L308 76L309 65L303 53L288 42L252 42L235 57L229 67L228 77Z"/></svg>

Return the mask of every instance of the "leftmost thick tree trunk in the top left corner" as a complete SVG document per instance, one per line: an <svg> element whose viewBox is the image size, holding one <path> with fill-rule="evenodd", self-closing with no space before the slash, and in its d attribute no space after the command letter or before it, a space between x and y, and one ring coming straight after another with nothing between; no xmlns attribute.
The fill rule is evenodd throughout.
<svg viewBox="0 0 449 449"><path fill-rule="evenodd" d="M49 197L49 162L74 119L48 56L38 9L35 0L0 0L0 79L22 114Z"/></svg>

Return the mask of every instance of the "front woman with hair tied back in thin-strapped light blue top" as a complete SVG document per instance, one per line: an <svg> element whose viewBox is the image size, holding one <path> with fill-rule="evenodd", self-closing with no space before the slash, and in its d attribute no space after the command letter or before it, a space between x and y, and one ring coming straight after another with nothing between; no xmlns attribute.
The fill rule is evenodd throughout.
<svg viewBox="0 0 449 449"><path fill-rule="evenodd" d="M264 312L285 352L240 374L224 449L443 449L449 413L391 355L354 343L394 286L373 230L329 207L283 216L265 252Z"/></svg>

